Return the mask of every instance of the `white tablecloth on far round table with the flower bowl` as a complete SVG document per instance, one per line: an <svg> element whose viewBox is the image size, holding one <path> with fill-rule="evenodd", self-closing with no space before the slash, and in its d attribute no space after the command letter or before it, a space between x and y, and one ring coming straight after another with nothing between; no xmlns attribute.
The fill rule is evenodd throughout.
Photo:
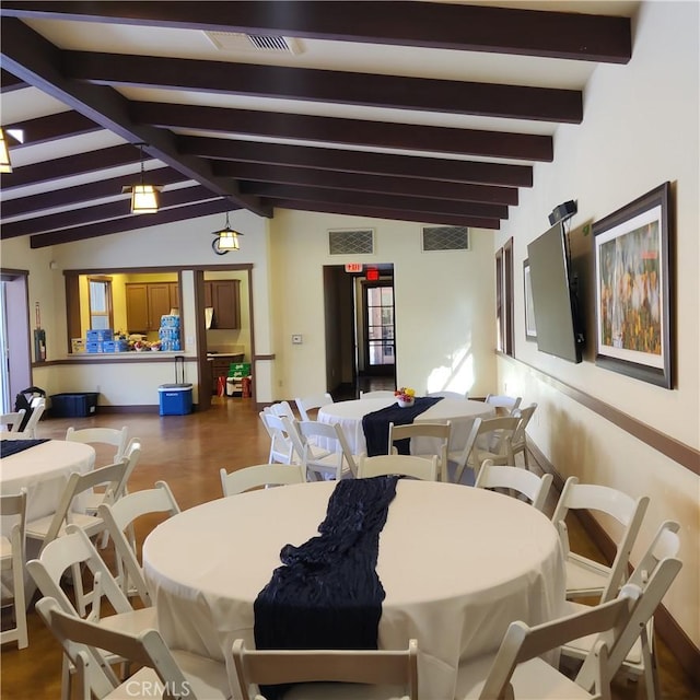
<svg viewBox="0 0 700 700"><path fill-rule="evenodd" d="M382 408L396 404L393 398L360 398L351 401L337 401L328 404L318 409L318 420L322 423L340 423L342 431L348 439L348 444L352 454L366 453L368 445L362 430L362 419L366 413L378 411ZM469 399L443 398L428 410L417 416L415 423L445 423L451 421L450 450L462 450L467 444L469 431L475 418L492 418L495 409L483 401L471 401ZM387 429L388 430L388 429ZM411 444L411 452L428 453L434 450L430 442L422 444L416 440ZM413 441L411 441L413 443Z"/></svg>

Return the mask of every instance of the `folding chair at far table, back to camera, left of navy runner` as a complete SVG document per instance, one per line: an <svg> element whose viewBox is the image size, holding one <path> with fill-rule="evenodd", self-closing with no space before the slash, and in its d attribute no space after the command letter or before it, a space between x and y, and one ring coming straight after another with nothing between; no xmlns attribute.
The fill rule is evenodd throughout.
<svg viewBox="0 0 700 700"><path fill-rule="evenodd" d="M345 479L357 475L355 457L339 423L302 420L295 427L307 475L314 479Z"/></svg>

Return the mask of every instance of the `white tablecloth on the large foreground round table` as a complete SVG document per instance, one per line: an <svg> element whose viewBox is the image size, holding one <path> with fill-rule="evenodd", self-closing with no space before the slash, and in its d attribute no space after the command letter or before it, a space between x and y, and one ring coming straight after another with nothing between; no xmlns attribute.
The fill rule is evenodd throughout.
<svg viewBox="0 0 700 700"><path fill-rule="evenodd" d="M212 658L243 638L253 604L283 545L317 534L335 482L252 491L211 501L159 525L143 561L165 641ZM506 495L400 480L382 532L383 649L419 645L421 697L454 698L456 669L498 648L513 620L563 614L557 533L539 511Z"/></svg>

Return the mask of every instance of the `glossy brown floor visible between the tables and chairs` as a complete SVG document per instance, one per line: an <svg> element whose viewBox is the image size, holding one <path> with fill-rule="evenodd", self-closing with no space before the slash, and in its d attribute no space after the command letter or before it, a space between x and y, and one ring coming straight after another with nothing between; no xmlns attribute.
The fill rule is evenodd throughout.
<svg viewBox="0 0 700 700"><path fill-rule="evenodd" d="M49 418L39 423L38 433L40 438L62 439L69 425L127 425L129 434L140 438L142 442L141 459L129 482L129 490L152 488L155 481L163 479L171 486L183 510L221 497L220 468L230 471L265 463L269 450L269 439L250 399L214 398L211 410L189 416L98 412L90 418ZM108 452L98 451L96 463L102 465L108 462ZM553 509L553 500L548 505ZM145 527L155 524L151 522ZM147 534L143 529L137 533L139 539ZM573 537L572 549L587 556L596 553L584 533L574 528ZM109 546L103 553L108 560ZM599 557L599 553L596 556ZM33 609L28 612L28 627L27 649L19 651L14 643L2 646L0 697L2 700L58 700L60 648ZM658 661L663 700L700 698L700 689L691 686L663 643L658 644ZM643 684L616 679L615 700L643 700L644 697Z"/></svg>

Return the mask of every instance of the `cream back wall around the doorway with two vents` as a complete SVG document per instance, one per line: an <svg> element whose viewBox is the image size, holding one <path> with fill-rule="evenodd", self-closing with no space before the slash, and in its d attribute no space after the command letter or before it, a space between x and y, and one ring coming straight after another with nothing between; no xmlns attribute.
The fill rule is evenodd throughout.
<svg viewBox="0 0 700 700"><path fill-rule="evenodd" d="M368 228L375 230L374 255L329 255L329 229ZM323 267L346 262L394 264L399 386L418 393L454 387L474 396L493 389L493 233L472 231L471 250L440 253L421 253L420 233L418 223L276 213L276 397L326 390ZM292 345L292 334L302 334L303 345Z"/></svg>

